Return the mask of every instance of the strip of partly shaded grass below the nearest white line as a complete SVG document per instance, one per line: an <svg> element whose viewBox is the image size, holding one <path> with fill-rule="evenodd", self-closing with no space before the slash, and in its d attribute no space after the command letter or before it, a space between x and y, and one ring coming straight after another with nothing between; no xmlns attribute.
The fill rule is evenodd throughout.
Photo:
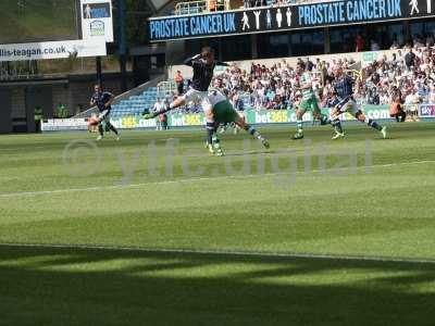
<svg viewBox="0 0 435 326"><path fill-rule="evenodd" d="M0 325L431 325L434 281L431 263L0 246Z"/></svg>

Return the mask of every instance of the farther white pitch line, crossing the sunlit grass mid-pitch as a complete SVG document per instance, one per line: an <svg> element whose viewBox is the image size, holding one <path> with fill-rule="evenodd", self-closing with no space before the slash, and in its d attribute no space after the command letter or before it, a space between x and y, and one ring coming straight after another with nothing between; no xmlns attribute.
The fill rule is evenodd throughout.
<svg viewBox="0 0 435 326"><path fill-rule="evenodd" d="M389 164L380 164L380 165L369 165L369 166L356 166L356 167L341 167L341 168L333 168L333 171L347 171L352 168L373 168L373 167L391 167L391 166L400 166L400 165L413 165L413 164L431 164L435 163L435 160L425 160L425 161L412 161L412 162L399 162L399 163L389 163ZM327 170L326 170L327 171ZM323 173L325 171L322 170L312 170L310 172L297 171L295 174L307 174L310 173ZM54 189L54 190L40 190L40 191L22 191L22 192L11 192L11 193L0 193L0 199L3 198L13 198L13 197L33 197L33 196L41 196L41 195L55 195L55 193L65 193L65 192L82 192L82 191L98 191L98 190L112 190L112 189L128 189L128 188L140 188L144 186L156 186L156 185L173 185L173 184L182 184L182 183L195 183L195 181L210 181L216 179L225 179L225 178L254 178L254 177L268 177L268 176L276 176L276 175L287 175L293 174L294 172L279 172L279 173L264 173L264 174L247 174L247 175L224 175L224 176L215 176L215 177L197 177L197 178L185 178L178 180L164 180L164 181L154 181L154 183L141 183L141 184L128 184L128 185L113 185L113 186L100 186L100 187L88 187L88 188L70 188L70 189Z"/></svg>

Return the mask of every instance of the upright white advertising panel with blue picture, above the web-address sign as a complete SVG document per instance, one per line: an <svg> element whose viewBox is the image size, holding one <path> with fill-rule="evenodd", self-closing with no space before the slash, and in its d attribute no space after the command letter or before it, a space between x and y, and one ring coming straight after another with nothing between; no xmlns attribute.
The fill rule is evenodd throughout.
<svg viewBox="0 0 435 326"><path fill-rule="evenodd" d="M80 14L83 39L104 38L113 42L111 0L80 0Z"/></svg>

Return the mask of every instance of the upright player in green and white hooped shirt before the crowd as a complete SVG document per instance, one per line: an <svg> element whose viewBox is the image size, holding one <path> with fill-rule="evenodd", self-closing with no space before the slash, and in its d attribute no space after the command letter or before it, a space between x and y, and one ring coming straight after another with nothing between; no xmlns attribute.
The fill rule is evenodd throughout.
<svg viewBox="0 0 435 326"><path fill-rule="evenodd" d="M298 105L298 110L296 112L297 118L297 131L293 139L302 139L303 138L303 114L307 111L311 111L314 118L319 120L322 125L328 124L330 120L326 115L322 114L318 98L315 97L314 90L312 88L311 76L308 72L306 72L306 64L303 62L298 62L296 65L296 73L299 75L300 80L300 89L302 91L302 100Z"/></svg>

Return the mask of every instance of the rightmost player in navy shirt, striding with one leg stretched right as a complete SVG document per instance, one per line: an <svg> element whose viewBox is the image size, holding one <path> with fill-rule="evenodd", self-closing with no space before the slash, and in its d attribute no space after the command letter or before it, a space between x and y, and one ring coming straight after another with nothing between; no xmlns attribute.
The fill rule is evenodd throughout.
<svg viewBox="0 0 435 326"><path fill-rule="evenodd" d="M381 126L374 120L365 116L365 114L360 109L358 109L357 102L353 99L353 84L355 80L350 76L343 73L343 67L337 67L333 86L338 97L338 103L334 106L331 113L331 124L334 126L335 129L335 135L333 136L333 139L345 137L345 133L343 131L341 123L339 120L339 115L345 112L348 112L359 122L366 123L370 127L378 130L382 136L386 138L387 127Z"/></svg>

